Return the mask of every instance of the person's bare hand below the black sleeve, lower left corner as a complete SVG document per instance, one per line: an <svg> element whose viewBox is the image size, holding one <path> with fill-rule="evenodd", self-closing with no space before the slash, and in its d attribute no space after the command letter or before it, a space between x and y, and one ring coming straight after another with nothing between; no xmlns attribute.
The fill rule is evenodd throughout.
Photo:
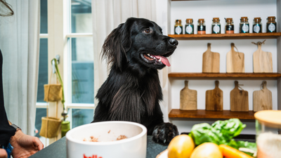
<svg viewBox="0 0 281 158"><path fill-rule="evenodd" d="M39 138L28 136L21 130L15 132L15 136L11 138L10 143L13 146L13 158L30 157L44 147Z"/></svg>

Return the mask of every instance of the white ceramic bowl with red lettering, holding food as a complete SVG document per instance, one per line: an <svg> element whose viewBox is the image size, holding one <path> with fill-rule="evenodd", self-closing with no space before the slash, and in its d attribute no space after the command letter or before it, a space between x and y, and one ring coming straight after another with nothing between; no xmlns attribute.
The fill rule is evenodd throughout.
<svg viewBox="0 0 281 158"><path fill-rule="evenodd" d="M118 136L126 139L117 140ZM83 141L91 136L98 142ZM101 121L66 133L67 158L145 158L147 129L131 121Z"/></svg>

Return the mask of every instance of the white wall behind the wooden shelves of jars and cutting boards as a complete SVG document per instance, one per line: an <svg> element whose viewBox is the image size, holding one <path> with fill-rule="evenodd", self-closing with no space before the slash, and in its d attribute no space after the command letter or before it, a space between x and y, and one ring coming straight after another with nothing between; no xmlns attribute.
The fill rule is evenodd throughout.
<svg viewBox="0 0 281 158"><path fill-rule="evenodd" d="M174 23L176 19L181 19L183 25L185 25L185 19L192 18L194 20L196 34L197 20L199 18L204 18L206 21L207 34L210 34L212 18L220 18L222 33L225 32L224 18L233 18L235 33L238 33L240 18L242 16L247 16L249 18L250 32L252 32L251 26L253 19L261 17L263 32L266 32L266 18L268 16L277 16L276 3L276 0L164 1L157 8L157 13L160 13L157 15L157 23L161 27L164 26L165 29L169 28L167 34L174 34ZM166 9L168 11L166 11ZM168 26L163 22L165 18L168 19ZM254 51L256 51L257 46L251 44L251 42L263 40L264 39L179 40L178 48L174 55L169 58L171 67L165 68L162 72L202 72L202 54L204 51L207 51L207 43L211 43L211 51L218 52L221 55L220 72L226 72L226 53L230 51L230 43L234 43L238 50L244 53L245 72L253 72L252 55ZM269 51L273 54L273 72L277 72L277 40L266 39L266 44L261 48L263 51ZM223 91L223 108L224 110L230 110L230 91L234 88L235 80L218 80L220 81L220 88ZM189 80L189 88L197 90L198 109L204 110L205 92L214 89L214 81L215 79ZM260 89L263 80L239 79L237 81L239 81L239 84L244 84L242 88L248 91L249 110L253 110L253 91L258 91ZM266 81L268 82L268 89L272 91L273 94L273 109L277 110L277 81ZM167 114L169 114L171 109L179 109L180 91L184 87L184 79L162 79L162 82L164 82L163 85L165 85L163 88L164 101L162 103L164 119L165 121L171 121L176 124L180 133L189 132L194 124L202 122L212 124L216 121L216 119L167 119ZM242 133L255 134L254 120L242 121L244 124L247 124L247 127Z"/></svg>

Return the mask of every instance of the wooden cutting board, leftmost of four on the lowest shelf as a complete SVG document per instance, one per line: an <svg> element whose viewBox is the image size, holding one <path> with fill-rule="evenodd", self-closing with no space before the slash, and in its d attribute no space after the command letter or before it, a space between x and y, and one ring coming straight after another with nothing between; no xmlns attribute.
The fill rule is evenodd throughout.
<svg viewBox="0 0 281 158"><path fill-rule="evenodd" d="M188 81L181 90L181 110L197 110L197 91L188 88Z"/></svg>

